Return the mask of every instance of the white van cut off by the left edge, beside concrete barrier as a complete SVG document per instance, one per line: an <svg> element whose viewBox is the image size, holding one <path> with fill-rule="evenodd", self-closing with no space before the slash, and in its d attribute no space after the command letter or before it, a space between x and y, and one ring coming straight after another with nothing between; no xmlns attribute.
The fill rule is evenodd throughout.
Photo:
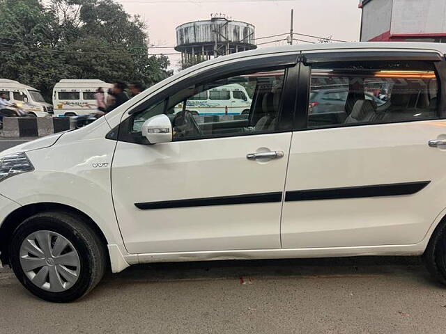
<svg viewBox="0 0 446 334"><path fill-rule="evenodd" d="M53 113L53 106L45 102L39 90L20 84L19 81L0 79L0 93L5 93L6 100L33 116L45 117Z"/></svg>

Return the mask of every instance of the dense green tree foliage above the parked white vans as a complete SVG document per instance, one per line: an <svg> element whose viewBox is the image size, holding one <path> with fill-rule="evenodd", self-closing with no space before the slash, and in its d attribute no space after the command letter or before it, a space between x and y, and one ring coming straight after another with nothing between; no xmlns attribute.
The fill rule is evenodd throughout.
<svg viewBox="0 0 446 334"><path fill-rule="evenodd" d="M0 0L0 77L42 90L60 79L141 81L171 75L166 56L148 54L138 16L113 0Z"/></svg>

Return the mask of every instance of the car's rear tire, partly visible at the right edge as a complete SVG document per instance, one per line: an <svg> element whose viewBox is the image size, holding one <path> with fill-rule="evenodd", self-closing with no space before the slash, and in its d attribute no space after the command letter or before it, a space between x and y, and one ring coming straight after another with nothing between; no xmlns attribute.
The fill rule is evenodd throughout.
<svg viewBox="0 0 446 334"><path fill-rule="evenodd" d="M446 220L443 219L433 232L423 260L431 276L446 285Z"/></svg>

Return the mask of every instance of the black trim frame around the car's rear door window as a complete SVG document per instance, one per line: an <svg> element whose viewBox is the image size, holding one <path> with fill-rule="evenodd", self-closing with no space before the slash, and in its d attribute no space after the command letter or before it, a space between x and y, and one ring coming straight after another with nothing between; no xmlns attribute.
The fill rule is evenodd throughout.
<svg viewBox="0 0 446 334"><path fill-rule="evenodd" d="M293 132L311 131L318 129L334 129L340 127L361 127L371 125L398 124L406 122L424 122L431 120L443 120L446 118L446 55L441 57L436 51L344 51L344 52L311 52L302 51L300 65L300 75L298 83L298 103L294 116ZM331 58L333 57L333 58ZM376 123L351 123L338 125L323 125L320 127L308 127L309 112L309 94L311 85L311 65L312 63L334 63L345 61L392 61L392 60L413 60L413 61L431 61L436 67L436 76L438 81L438 105L437 117L423 118L419 120L399 120L396 122L376 122Z"/></svg>

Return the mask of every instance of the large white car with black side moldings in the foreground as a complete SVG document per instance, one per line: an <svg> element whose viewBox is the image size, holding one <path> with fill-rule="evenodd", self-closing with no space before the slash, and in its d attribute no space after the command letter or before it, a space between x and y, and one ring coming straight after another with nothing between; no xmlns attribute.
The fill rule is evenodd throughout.
<svg viewBox="0 0 446 334"><path fill-rule="evenodd" d="M446 283L445 54L403 42L241 52L1 152L1 261L57 302L108 266L147 262L424 255ZM247 118L187 111L227 84L252 87ZM309 113L310 93L334 88L344 103Z"/></svg>

